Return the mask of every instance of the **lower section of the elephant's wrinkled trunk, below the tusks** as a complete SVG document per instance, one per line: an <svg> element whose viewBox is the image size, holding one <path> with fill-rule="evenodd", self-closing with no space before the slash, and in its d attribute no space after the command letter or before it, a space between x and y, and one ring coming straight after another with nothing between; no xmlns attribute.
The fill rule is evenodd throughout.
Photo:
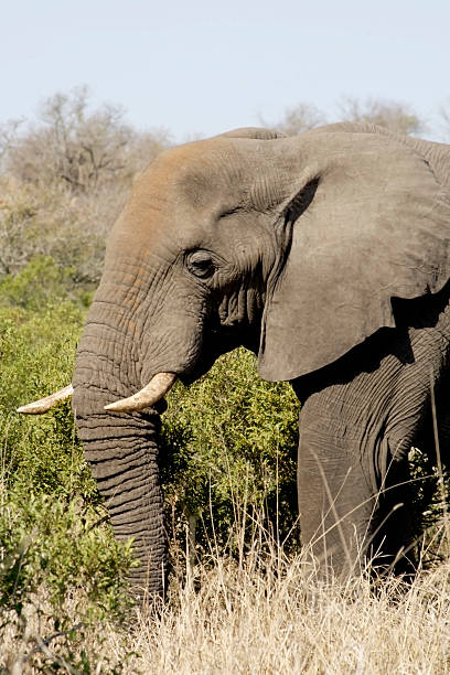
<svg viewBox="0 0 450 675"><path fill-rule="evenodd" d="M75 389L75 407L81 397ZM130 572L133 592L162 594L167 551L158 469L160 419L157 415L85 414L79 409L78 433L115 536L122 542L133 539L138 559Z"/></svg>

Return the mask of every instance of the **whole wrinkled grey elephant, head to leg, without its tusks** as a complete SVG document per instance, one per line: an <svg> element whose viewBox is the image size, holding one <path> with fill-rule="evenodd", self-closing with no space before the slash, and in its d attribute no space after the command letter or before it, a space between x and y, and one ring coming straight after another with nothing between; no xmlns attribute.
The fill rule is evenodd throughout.
<svg viewBox="0 0 450 675"><path fill-rule="evenodd" d="M165 576L163 407L104 406L159 372L192 382L240 344L302 401L301 528L322 568L349 574L381 543L389 562L408 544L409 495L393 486L411 444L435 447L431 387L448 440L449 195L450 147L350 124L237 130L169 150L136 181L73 404L116 535L135 537L138 592L161 593Z"/></svg>

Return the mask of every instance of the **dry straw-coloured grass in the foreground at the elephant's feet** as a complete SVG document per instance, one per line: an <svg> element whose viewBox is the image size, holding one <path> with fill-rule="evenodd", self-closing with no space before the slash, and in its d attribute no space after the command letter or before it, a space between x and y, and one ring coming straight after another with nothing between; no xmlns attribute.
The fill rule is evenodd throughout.
<svg viewBox="0 0 450 675"><path fill-rule="evenodd" d="M364 576L346 586L320 582L304 554L288 560L275 551L265 559L254 553L240 565L216 557L210 569L195 571L195 581L172 582L158 612L135 610L128 629L103 629L100 647L87 630L78 649L92 671L61 661L62 672L450 671L450 562L421 571L410 587L395 578L383 581L376 593ZM3 645L11 666L17 664L10 672L33 672L28 665L22 671L13 656L30 652L32 633L28 645ZM53 653L56 642L49 644Z"/></svg>

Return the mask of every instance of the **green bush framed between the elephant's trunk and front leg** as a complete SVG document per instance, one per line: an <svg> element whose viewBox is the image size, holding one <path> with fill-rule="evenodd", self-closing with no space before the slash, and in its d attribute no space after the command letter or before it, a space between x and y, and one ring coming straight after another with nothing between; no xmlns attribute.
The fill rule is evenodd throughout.
<svg viewBox="0 0 450 675"><path fill-rule="evenodd" d="M262 382L254 355L239 349L188 389L172 389L168 403L161 465L172 531L182 515L191 526L201 521L200 545L214 539L233 550L234 525L246 524L250 544L257 517L269 539L298 543L299 404L291 387Z"/></svg>

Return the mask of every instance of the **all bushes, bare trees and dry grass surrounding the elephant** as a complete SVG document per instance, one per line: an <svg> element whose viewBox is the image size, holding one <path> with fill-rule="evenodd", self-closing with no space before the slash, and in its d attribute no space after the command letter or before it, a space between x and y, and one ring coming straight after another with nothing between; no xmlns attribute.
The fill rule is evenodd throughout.
<svg viewBox="0 0 450 675"><path fill-rule="evenodd" d="M396 101L342 101L341 119L426 128ZM442 133L449 116L442 111ZM311 105L277 125L323 124ZM18 405L71 381L105 237L132 178L171 143L81 88L39 122L0 129L0 673L440 673L450 667L446 476L411 451L424 569L371 591L319 582L297 522L298 401L239 350L163 416L171 555L167 602L127 593L132 544L108 526L68 405ZM431 475L432 479L426 476Z"/></svg>

